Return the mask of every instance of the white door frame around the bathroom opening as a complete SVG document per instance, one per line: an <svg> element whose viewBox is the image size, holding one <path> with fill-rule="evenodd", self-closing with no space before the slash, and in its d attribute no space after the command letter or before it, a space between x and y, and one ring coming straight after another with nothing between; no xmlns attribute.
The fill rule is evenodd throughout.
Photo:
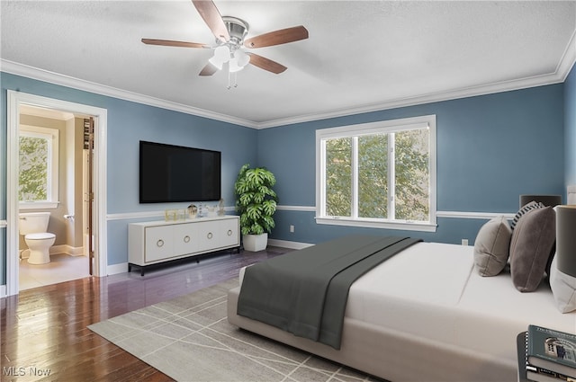
<svg viewBox="0 0 576 382"><path fill-rule="evenodd" d="M20 105L38 106L74 114L94 116L94 276L107 275L108 243L106 230L106 109L55 100L40 95L8 90L6 160L6 296L18 294L18 127Z"/></svg>

